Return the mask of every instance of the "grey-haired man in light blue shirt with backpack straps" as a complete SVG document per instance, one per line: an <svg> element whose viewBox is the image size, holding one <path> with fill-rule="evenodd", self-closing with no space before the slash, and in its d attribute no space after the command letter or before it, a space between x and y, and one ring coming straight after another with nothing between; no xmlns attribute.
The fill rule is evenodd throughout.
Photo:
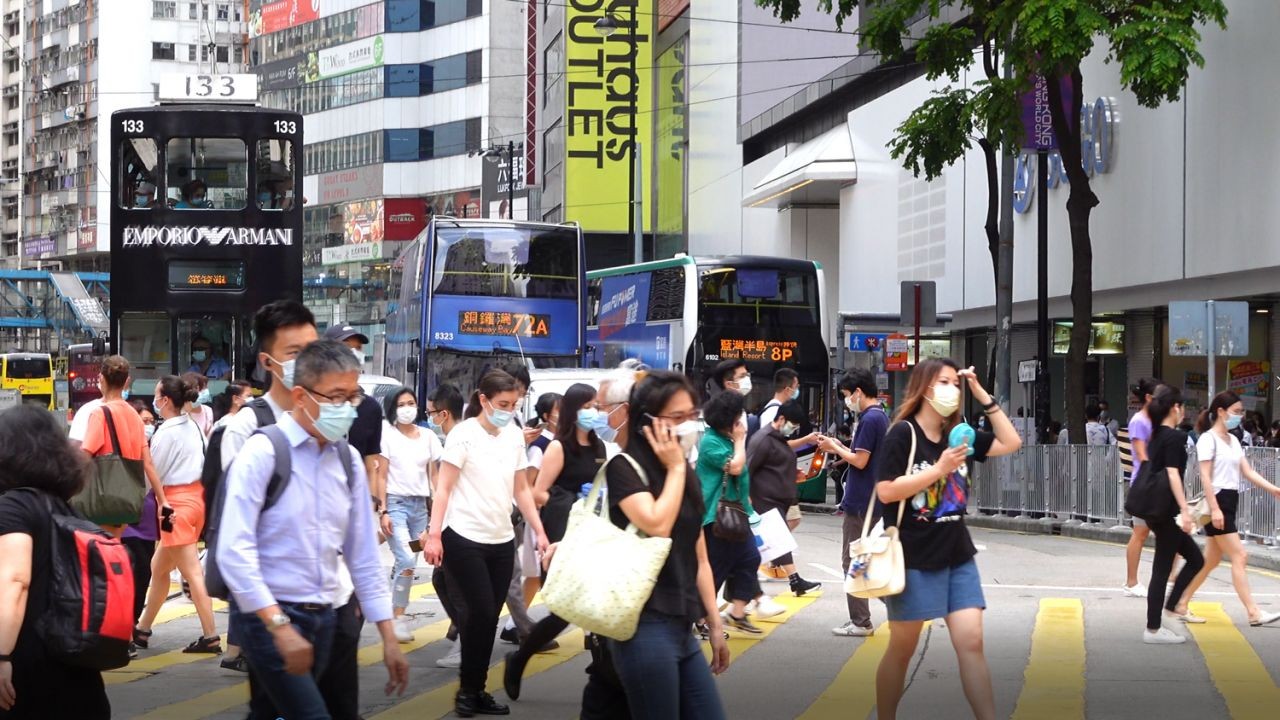
<svg viewBox="0 0 1280 720"><path fill-rule="evenodd" d="M342 439L362 398L358 375L356 359L342 343L317 341L303 348L293 373L293 411L276 423L292 448L291 477L279 500L262 511L275 457L261 433L244 443L225 478L218 566L244 629L243 652L268 691L269 717L330 717L316 678L333 642L332 603L343 561L365 618L381 634L388 694L403 693L408 684L408 661L396 639L378 556L369 482Z"/></svg>

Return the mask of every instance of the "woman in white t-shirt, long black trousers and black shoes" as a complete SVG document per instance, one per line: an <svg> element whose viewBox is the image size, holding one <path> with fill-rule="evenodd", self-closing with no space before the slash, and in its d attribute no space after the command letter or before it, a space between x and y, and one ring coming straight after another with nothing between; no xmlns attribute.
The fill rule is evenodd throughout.
<svg viewBox="0 0 1280 720"><path fill-rule="evenodd" d="M502 370L480 378L471 396L480 415L458 424L444 441L431 528L422 538L426 561L443 566L449 592L466 598L457 609L462 666L454 710L462 717L507 712L485 692L485 678L515 566L512 501L532 527L538 551L547 551L532 488L516 482L529 466L524 433L512 424L518 401L516 378Z"/></svg>

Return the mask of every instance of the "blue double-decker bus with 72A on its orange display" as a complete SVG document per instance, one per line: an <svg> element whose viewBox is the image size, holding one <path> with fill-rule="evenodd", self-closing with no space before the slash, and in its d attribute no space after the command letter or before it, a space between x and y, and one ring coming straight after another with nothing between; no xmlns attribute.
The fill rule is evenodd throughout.
<svg viewBox="0 0 1280 720"><path fill-rule="evenodd" d="M490 368L580 368L585 352L582 231L435 217L396 260L387 374L419 397L470 393Z"/></svg>

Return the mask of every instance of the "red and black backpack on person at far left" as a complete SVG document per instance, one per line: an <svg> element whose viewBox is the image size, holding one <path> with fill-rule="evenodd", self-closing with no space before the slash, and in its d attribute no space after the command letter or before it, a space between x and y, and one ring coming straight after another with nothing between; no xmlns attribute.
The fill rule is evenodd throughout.
<svg viewBox="0 0 1280 720"><path fill-rule="evenodd" d="M49 655L91 670L124 667L133 639L128 548L52 496L14 489L38 493L49 509L49 609L36 621Z"/></svg>

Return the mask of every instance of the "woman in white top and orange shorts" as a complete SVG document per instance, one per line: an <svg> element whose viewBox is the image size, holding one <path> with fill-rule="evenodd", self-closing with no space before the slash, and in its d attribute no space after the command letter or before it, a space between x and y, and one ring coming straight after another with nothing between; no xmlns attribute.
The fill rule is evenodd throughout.
<svg viewBox="0 0 1280 720"><path fill-rule="evenodd" d="M154 406L156 414L164 418L164 424L151 438L151 456L173 512L160 518L160 550L151 560L151 589L142 619L133 629L133 643L140 648L150 644L151 625L169 594L169 575L177 568L191 585L191 600L196 605L202 633L183 652L218 655L223 651L221 638L214 626L212 601L196 553L196 543L205 529L205 488L200 482L205 464L205 433L191 415L183 413L183 407L198 395L196 383L177 375L165 375L156 383Z"/></svg>

